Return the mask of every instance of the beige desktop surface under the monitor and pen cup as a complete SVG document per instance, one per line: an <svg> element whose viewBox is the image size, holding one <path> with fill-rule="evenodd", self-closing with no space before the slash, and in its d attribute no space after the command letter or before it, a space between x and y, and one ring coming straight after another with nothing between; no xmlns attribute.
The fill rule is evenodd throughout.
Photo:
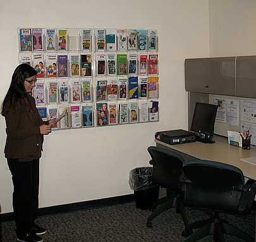
<svg viewBox="0 0 256 242"><path fill-rule="evenodd" d="M241 158L256 157L254 146L249 150L231 146L228 144L228 138L218 135L214 135L212 140L215 141L214 144L192 142L170 145L157 140L155 140L155 142L198 159L209 159L211 161L232 164L233 166L240 168L245 176L256 180L256 165L240 160Z"/></svg>

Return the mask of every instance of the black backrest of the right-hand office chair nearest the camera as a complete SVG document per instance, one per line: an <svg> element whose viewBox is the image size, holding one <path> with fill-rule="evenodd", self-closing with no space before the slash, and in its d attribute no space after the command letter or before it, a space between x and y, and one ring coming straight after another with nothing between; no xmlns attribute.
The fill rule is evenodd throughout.
<svg viewBox="0 0 256 242"><path fill-rule="evenodd" d="M185 178L185 204L202 209L235 212L241 197L241 173L217 166L188 164L183 167Z"/></svg>

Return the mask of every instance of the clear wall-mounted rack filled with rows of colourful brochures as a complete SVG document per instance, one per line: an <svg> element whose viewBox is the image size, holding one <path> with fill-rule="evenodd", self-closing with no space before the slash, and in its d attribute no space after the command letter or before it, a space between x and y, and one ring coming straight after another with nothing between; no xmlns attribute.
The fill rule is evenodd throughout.
<svg viewBox="0 0 256 242"><path fill-rule="evenodd" d="M19 28L18 38L41 117L67 113L54 129L159 120L156 30Z"/></svg>

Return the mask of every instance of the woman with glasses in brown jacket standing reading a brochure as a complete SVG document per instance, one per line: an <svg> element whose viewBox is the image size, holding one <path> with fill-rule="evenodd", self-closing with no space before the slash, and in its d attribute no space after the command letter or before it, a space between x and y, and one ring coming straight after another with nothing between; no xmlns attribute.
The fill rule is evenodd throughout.
<svg viewBox="0 0 256 242"><path fill-rule="evenodd" d="M31 96L37 72L28 64L16 67L4 98L1 114L6 120L4 154L13 180L13 212L18 241L39 242L46 229L35 224L39 207L39 159L43 135L51 123L43 122Z"/></svg>

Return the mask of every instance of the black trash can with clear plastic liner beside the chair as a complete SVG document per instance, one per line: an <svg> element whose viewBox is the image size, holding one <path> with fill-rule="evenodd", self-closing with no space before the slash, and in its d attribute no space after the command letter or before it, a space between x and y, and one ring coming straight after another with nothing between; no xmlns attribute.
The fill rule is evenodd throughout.
<svg viewBox="0 0 256 242"><path fill-rule="evenodd" d="M152 209L159 198L159 185L151 180L152 167L138 167L130 171L129 185L134 190L137 209Z"/></svg>

